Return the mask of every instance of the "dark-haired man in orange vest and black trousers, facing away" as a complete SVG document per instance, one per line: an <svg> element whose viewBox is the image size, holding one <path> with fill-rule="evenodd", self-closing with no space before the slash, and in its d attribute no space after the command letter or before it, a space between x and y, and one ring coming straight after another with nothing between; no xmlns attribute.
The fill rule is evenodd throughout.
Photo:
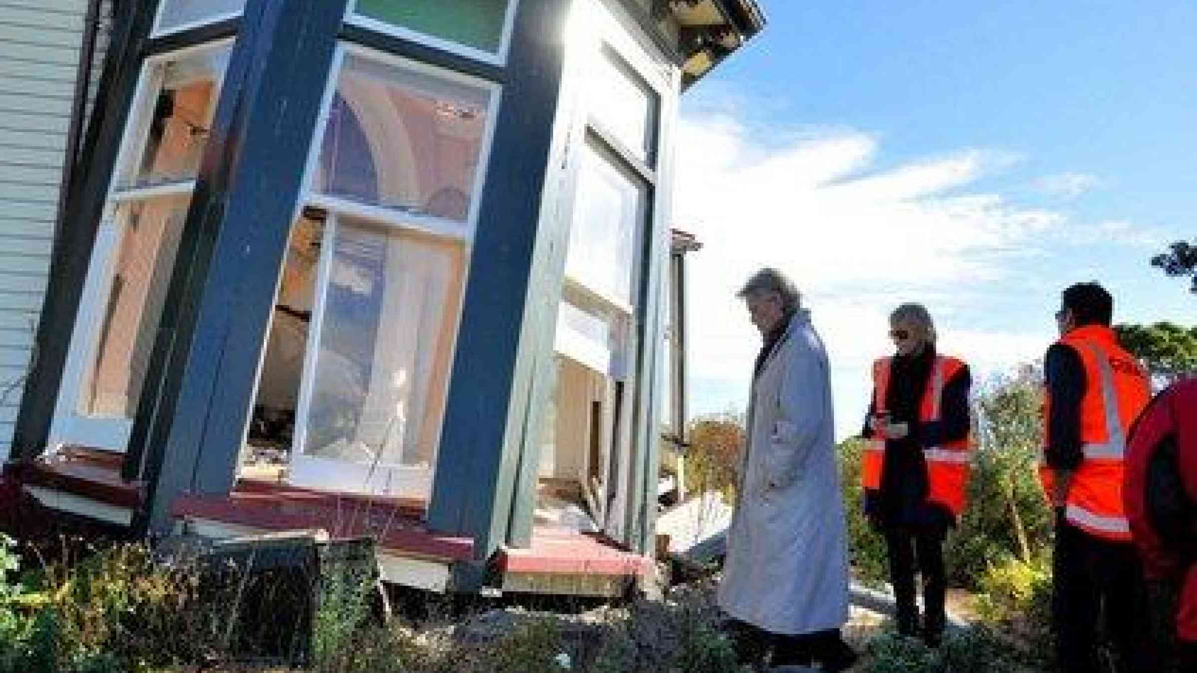
<svg viewBox="0 0 1197 673"><path fill-rule="evenodd" d="M1118 344L1113 298L1096 283L1064 290L1061 338L1044 357L1045 428L1039 475L1056 510L1052 630L1062 671L1104 671L1100 622L1117 671L1155 671L1146 590L1123 504L1124 453L1147 406L1147 372Z"/></svg>

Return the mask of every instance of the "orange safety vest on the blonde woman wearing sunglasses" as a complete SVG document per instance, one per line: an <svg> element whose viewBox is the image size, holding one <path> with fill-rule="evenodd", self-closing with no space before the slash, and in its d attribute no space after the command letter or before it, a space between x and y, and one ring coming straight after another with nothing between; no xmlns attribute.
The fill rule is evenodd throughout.
<svg viewBox="0 0 1197 673"><path fill-rule="evenodd" d="M886 408L886 392L889 388L889 370L893 358L881 358L873 363L873 408ZM946 356L936 356L931 364L931 380L923 393L918 419L931 423L940 419L943 406L943 386L952 380L965 363ZM937 447L924 447L923 459L926 465L928 499L942 504L960 516L965 509L965 493L968 486L968 469L972 462L972 439L965 437L943 442ZM881 487L881 472L885 469L886 441L881 437L869 439L861 456L861 485L865 489Z"/></svg>

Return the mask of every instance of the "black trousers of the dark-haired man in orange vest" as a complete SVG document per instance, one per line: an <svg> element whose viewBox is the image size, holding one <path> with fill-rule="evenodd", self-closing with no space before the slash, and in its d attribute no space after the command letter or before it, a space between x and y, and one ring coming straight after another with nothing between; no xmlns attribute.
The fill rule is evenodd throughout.
<svg viewBox="0 0 1197 673"><path fill-rule="evenodd" d="M1160 669L1159 653L1152 647L1147 586L1134 545L1089 535L1059 514L1052 582L1052 631L1062 672L1105 672L1098 647L1102 642L1108 642L1119 673Z"/></svg>

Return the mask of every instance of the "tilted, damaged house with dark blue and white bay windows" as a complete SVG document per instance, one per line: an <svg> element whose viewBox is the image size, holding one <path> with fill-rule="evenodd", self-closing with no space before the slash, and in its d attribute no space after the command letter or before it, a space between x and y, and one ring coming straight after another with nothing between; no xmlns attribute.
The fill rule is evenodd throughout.
<svg viewBox="0 0 1197 673"><path fill-rule="evenodd" d="M377 535L435 589L646 568L678 101L752 0L28 5L6 479L136 534Z"/></svg>

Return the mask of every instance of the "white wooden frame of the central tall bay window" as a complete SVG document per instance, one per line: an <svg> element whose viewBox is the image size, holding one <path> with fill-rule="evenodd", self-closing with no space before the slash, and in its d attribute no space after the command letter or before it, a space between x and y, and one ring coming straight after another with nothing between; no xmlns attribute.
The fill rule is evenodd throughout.
<svg viewBox="0 0 1197 673"><path fill-rule="evenodd" d="M358 201L342 199L339 196L322 194L315 189L315 178L317 169L320 165L321 151L323 150L323 138L324 132L328 127L329 117L332 116L333 101L336 95L336 87L340 81L341 72L345 67L346 56L357 56L361 59L369 59L375 62L403 68L408 71L414 71L420 74L427 74L437 77L440 79L446 79L461 84L467 84L470 86L476 86L479 89L485 89L490 97L487 102L487 119L486 127L482 132L481 148L479 152L476 174L474 176L474 188L470 193L470 206L468 211L468 217L464 223L451 220L448 218L439 218L435 216L424 216L415 213L403 213L391 208L373 206L369 204L361 204ZM502 102L503 87L496 81L491 81L484 78L478 78L460 72L450 71L446 68L436 67L429 63L413 61L402 56L396 56L394 54L388 54L384 51L378 51L367 47L359 44L353 44L350 42L339 42L336 51L333 56L333 65L329 68L328 78L324 85L324 97L321 102L320 117L314 128L312 143L308 154L308 163L304 168L303 189L300 190L299 199L297 199L294 212L292 213L292 223L296 222L303 208L315 207L322 210L327 213L324 220L324 231L321 245L321 257L316 273L316 286L315 286L315 302L312 304L311 322L309 323L308 341L304 352L304 364L303 371L300 372L299 383L299 396L296 404L296 420L294 420L294 432L292 437L292 445L290 451L290 474L288 481L305 487L320 489L320 490L332 490L342 492L360 492L360 493L377 493L383 496L397 496L397 497L423 497L427 498L431 493L427 490L431 487L432 479L436 477L436 469L439 465L439 433L443 429L438 429L437 436L437 451L433 457L433 463L429 469L412 467L412 466L378 466L372 468L370 465L356 463L348 461L339 461L334 459L310 456L304 454L304 447L308 436L308 417L311 412L311 401L315 394L315 381L316 381L316 366L317 366L317 354L320 347L320 336L323 328L323 319L326 313L327 303L327 291L329 281L329 272L333 263L333 249L336 236L336 230L339 226L340 217L352 217L356 219L369 222L370 224L385 230L400 230L425 236L432 236L444 241L452 241L461 245L462 253L462 279L461 279L461 296L457 297L458 311L455 316L455 326L452 334L452 342L449 345L450 352L456 351L458 329L461 326L461 310L463 305L464 291L468 285L468 271L469 260L473 254L473 242L474 232L478 228L478 217L480 211L480 204L482 200L482 188L486 184L486 177L490 170L490 157L491 150L494 144L494 128L499 115L499 104ZM279 273L279 281L281 283L281 267ZM257 376L255 377L255 387L259 381L261 381L262 374L262 362L266 357L266 344L269 341L269 334L265 335L262 340L261 353L259 359ZM440 393L440 398L435 401L438 405L444 405L448 398L449 386L445 386L444 390ZM255 390L256 400L256 390ZM253 404L253 402L251 402ZM251 414L249 414L251 416ZM245 435L249 432L249 423L247 419ZM243 439L244 442L244 439Z"/></svg>

